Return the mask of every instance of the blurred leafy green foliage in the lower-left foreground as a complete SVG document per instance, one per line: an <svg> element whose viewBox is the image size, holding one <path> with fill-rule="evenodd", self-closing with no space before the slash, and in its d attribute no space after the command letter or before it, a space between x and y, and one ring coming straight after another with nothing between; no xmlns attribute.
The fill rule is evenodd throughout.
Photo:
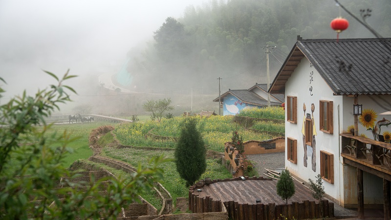
<svg viewBox="0 0 391 220"><path fill-rule="evenodd" d="M67 132L47 135L52 124L46 124L44 117L59 110L58 104L70 101L68 92L76 92L63 82L75 76L66 73L59 79L46 73L58 83L39 90L35 96L24 91L21 97L0 106L0 219L118 216L122 207L139 201L137 195L141 190L152 187L153 181L161 178L162 169L158 166L165 159L155 158L149 166L139 166L127 183L111 177L92 178L87 187L80 187L81 182L68 182L78 174L70 173L62 162L71 151L67 145L77 138L71 138ZM62 178L65 181L60 181ZM74 187L66 187L67 183ZM102 189L108 193L102 194Z"/></svg>

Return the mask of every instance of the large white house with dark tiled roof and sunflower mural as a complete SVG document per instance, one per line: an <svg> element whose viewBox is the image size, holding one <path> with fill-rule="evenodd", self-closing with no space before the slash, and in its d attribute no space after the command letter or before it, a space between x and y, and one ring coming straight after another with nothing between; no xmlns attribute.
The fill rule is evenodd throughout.
<svg viewBox="0 0 391 220"><path fill-rule="evenodd" d="M378 135L390 140L391 115L380 115L391 110L390 48L390 39L298 37L269 90L285 94L290 173L304 182L320 174L329 199L358 207L359 215L383 206L385 219L391 144ZM353 104L362 105L361 116L353 115Z"/></svg>

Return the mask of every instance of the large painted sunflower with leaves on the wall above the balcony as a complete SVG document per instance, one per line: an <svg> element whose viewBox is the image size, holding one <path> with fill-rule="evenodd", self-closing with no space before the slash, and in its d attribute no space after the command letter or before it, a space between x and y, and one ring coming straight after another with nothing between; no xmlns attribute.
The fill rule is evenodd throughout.
<svg viewBox="0 0 391 220"><path fill-rule="evenodd" d="M379 134L381 126L391 124L390 120L383 118L383 120L379 120L376 122L377 113L373 111L373 109L364 109L363 114L360 115L359 121L360 123L367 128L367 131L371 130L373 135L373 140L379 140ZM375 123L376 122L376 123Z"/></svg>

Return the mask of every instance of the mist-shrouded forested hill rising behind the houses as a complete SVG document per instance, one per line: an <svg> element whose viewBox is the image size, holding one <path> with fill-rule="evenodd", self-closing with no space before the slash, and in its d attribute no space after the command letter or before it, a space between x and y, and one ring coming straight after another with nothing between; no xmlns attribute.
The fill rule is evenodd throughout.
<svg viewBox="0 0 391 220"><path fill-rule="evenodd" d="M360 9L371 9L366 21L383 37L391 37L390 0L340 0L360 18ZM130 51L128 71L132 85L178 90L202 88L218 93L266 83L265 47L271 49L270 80L281 68L292 46L304 39L335 39L330 22L341 16L349 27L340 38L374 36L334 0L210 0L189 6L182 18L167 18L153 33L154 42L142 54Z"/></svg>

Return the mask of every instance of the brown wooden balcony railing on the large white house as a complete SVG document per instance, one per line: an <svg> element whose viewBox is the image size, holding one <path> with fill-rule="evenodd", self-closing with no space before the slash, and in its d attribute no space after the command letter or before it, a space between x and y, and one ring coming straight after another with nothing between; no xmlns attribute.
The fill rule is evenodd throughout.
<svg viewBox="0 0 391 220"><path fill-rule="evenodd" d="M391 143L345 133L340 136L342 157L391 174Z"/></svg>

